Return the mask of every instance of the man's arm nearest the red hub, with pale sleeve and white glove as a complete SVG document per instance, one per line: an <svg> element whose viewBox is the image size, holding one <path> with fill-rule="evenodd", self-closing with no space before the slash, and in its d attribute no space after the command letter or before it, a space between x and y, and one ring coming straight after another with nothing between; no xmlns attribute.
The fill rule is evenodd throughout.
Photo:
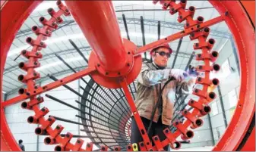
<svg viewBox="0 0 256 152"><path fill-rule="evenodd" d="M170 77L175 79L183 79L183 70L165 69L165 70L150 70L146 64L142 64L141 73L137 76L137 81L145 86L152 86L166 82Z"/></svg>

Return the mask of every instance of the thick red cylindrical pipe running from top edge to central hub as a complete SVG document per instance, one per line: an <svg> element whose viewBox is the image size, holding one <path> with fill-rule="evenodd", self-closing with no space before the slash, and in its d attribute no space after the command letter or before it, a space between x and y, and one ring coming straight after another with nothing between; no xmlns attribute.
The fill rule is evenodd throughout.
<svg viewBox="0 0 256 152"><path fill-rule="evenodd" d="M125 67L128 59L111 1L67 1L66 5L105 70Z"/></svg>

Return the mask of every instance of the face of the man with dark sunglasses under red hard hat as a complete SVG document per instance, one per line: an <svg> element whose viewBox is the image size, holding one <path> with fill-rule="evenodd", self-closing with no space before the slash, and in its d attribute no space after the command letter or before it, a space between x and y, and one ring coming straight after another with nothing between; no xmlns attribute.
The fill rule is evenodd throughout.
<svg viewBox="0 0 256 152"><path fill-rule="evenodd" d="M153 62L160 67L166 67L170 56L168 48L157 48L153 52Z"/></svg>

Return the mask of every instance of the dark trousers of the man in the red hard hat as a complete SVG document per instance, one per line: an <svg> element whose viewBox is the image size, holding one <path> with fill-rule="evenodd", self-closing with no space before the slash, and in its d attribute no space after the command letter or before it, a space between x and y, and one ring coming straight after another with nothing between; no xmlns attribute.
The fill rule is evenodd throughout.
<svg viewBox="0 0 256 152"><path fill-rule="evenodd" d="M147 130L148 127L150 126L150 119L146 119L141 116L141 120L145 126L145 129ZM163 141L166 139L166 135L164 135L163 130L166 129L167 127L168 126L163 125L161 116L157 123L154 123L154 122L152 123L150 132L148 133L148 137L150 138L152 145L154 145L154 143L152 142L152 137L154 135L158 135L158 137L160 138L160 141ZM143 138L141 137L141 132L137 128L137 123L135 122L134 116L132 116L131 117L131 144L136 143L140 150L140 146L138 143L141 141L143 141ZM168 151L169 145L167 145L166 147L163 147L163 149Z"/></svg>

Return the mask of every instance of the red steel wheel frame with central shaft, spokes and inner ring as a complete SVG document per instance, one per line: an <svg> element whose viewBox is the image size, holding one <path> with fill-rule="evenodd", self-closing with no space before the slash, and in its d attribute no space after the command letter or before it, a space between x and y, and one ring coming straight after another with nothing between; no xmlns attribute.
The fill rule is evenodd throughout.
<svg viewBox="0 0 256 152"><path fill-rule="evenodd" d="M254 48L255 42L254 42L254 22L251 24L251 18L254 20L254 4L255 2L233 2L233 1L210 1L210 3L216 8L217 11L220 13L220 17L216 17L213 20L208 20L203 23L194 23L194 20L192 20L192 14L188 14L188 11L184 11L184 9L181 8L184 4L175 5L173 2L161 2L163 5L163 8L173 7L177 8L177 11L179 11L179 14L182 14L183 17L185 17L185 20L187 23L190 24L187 28L185 26L185 30L181 33L176 33L172 36L166 37L166 39L160 39L157 42L150 43L149 45L145 45L142 48L138 48L134 51L127 51L127 47L131 47L132 45L123 45L123 41L121 40L120 34L119 34L119 27L115 20L115 12L113 11L111 2L67 2L68 8L71 11L71 13L74 16L74 19L77 21L79 26L81 26L81 29L84 33L84 36L87 37L88 42L93 47L93 54L96 54L96 57L91 60L97 60L100 62L100 65L103 67L103 72L110 73L109 76L111 79L115 79L111 83L120 84L119 86L124 89L125 95L128 98L128 103L131 106L131 110L134 113L136 122L141 130L141 134L144 137L144 144L147 147L147 150L161 150L162 147L164 147L166 144L173 143L175 141L175 138L177 138L179 135L183 135L183 138L188 138L186 136L186 133L188 132L187 127L195 121L194 116L198 115L198 108L200 109L200 106L194 106L192 113L188 113L189 115L186 116L189 120L186 120L184 124L175 123L175 126L178 128L178 131L175 132L172 135L166 134L166 140L163 142L157 141L157 138L153 138L153 141L155 142L156 146L152 147L149 138L147 136L147 133L144 134L143 132L146 132L144 129L144 126L141 123L141 119L139 118L137 114L136 107L134 107L134 103L132 101L131 95L128 92L127 85L131 80L127 81L129 73L133 73L132 76L136 77L139 70L138 67L141 67L140 58L136 58L139 56L138 54L141 54L144 51L149 50L150 48L154 48L157 45L161 45L166 42L171 42L175 39L179 39L183 36L188 36L191 33L194 33L194 37L198 36L199 43L198 45L195 45L194 48L201 48L202 47L202 56L204 56L204 66L198 67L198 70L204 70L205 73L205 79L207 79L207 82L204 84L203 92L197 92L194 91L195 95L198 95L201 97L201 100L198 101L198 105L207 104L208 101L205 101L204 99L207 98L207 94L204 92L207 92L207 87L210 85L209 82L209 73L210 70L213 69L213 67L210 67L210 57L207 57L208 53L207 51L210 50L211 44L206 43L206 37L204 36L205 33L196 32L197 29L203 29L204 27L213 25L215 23L218 23L222 20L225 20L227 25L229 26L229 29L232 32L232 35L235 39L236 46L239 50L239 60L240 60L240 67L241 68L241 88L240 88L240 94L239 94L239 102L238 107L235 110L234 116L231 122L229 123L228 128L226 129L225 134L220 139L218 144L213 148L213 150L236 150L239 145L242 142L242 139L245 137L246 132L248 131L248 127L251 124L251 120L254 116L255 112L255 70L254 70L254 60L255 60L255 51L250 50L250 48ZM27 16L30 14L31 11L33 11L33 8L36 7L36 5L39 5L40 1L35 2L1 2L1 86L2 86L2 76L3 76L3 69L5 66L5 60L6 55L8 52L8 49L11 46L11 42L14 39L15 33L17 33L17 29L21 27L21 24L24 23L24 20L27 18ZM22 6L22 7L21 7ZM167 6L167 7L166 7ZM243 7L244 8L243 8ZM85 9L87 8L87 9ZM94 11L93 11L94 10ZM65 10L64 10L65 11ZM86 12L94 12L93 14L89 14ZM96 13L95 13L96 12ZM228 12L228 13L226 13ZM58 15L55 17L59 17L62 14L65 14L63 11L58 11ZM82 15L84 14L84 15ZM87 14L87 15L85 15ZM104 14L104 15L103 15ZM249 15L249 16L248 16ZM92 22L92 19L95 22ZM52 19L55 21L55 19ZM87 20L90 20L89 22ZM58 21L58 20L57 20ZM182 21L182 20L179 20ZM106 26L103 26L103 23L106 23ZM198 24L200 26L198 26ZM115 29L113 32L111 30L111 33L109 33L109 27L112 27ZM47 26L45 26L47 29ZM193 29L192 29L193 28ZM91 30L88 30L91 29ZM94 29L94 30L93 30ZM193 37L193 36L192 36ZM111 38L111 39L109 39ZM36 41L40 42L43 39L42 35L38 36L38 39ZM191 38L193 39L193 38ZM124 40L125 41L125 40ZM36 46L33 46L35 49L33 51L37 51ZM132 47L131 47L132 48ZM128 54L133 54L134 58L129 58ZM114 59L113 59L114 57ZM138 61L136 61L138 60ZM33 58L30 57L30 62L33 61ZM68 82L71 82L74 79L78 79L81 76L86 76L87 74L91 74L95 76L104 74L100 73L99 69L99 63L95 61L94 64L89 63L89 68L86 70L82 70L79 73L75 73L71 76L67 76L64 79L60 79L58 82L52 82L49 85L45 85L43 87L39 88L33 88L33 81L28 80L27 81L27 90L30 92L30 96L27 95L20 95L17 98L13 98L6 102L1 102L1 150L20 150L19 147L17 147L16 141L14 141L13 136L11 135L10 129L8 129L8 124L6 123L5 119L5 113L4 113L4 107L9 106L11 104L16 104L19 101L23 101L24 99L30 98L31 101L36 99L36 95L39 95L42 92L46 92L50 89L56 88L60 85L66 84ZM131 64L126 67L127 61ZM115 65L118 63L118 65ZM125 64L124 64L125 63ZM115 67L113 67L113 65ZM102 70L102 69L101 69ZM119 71L122 71L122 73L119 73ZM33 68L28 68L27 70L28 75L33 74ZM106 74L105 73L105 74ZM112 73L119 73L117 76ZM107 74L106 74L107 75ZM100 85L104 85L106 82L99 82ZM112 87L116 87L116 84ZM2 87L1 87L2 92ZM2 94L1 94L2 98ZM210 100L210 99L209 99ZM51 138L55 136L55 140L60 143L59 146L56 148L60 150L83 150L81 149L81 144L83 141L81 139L77 140L76 144L69 143L71 139L71 134L67 135L65 138L60 138L58 135L56 136L56 130L49 127L49 119L44 119L42 116L45 114L45 110L40 110L38 107L33 106L33 110L35 110L36 115L34 118L40 118L40 124L44 129L49 132L49 135ZM61 126L60 126L61 127ZM194 126L196 127L196 126ZM251 136L249 136L248 140L246 141L244 147L242 147L242 150L254 150L255 137L254 137L254 129L251 132ZM148 143L148 144L147 144ZM172 146L172 145L171 145ZM86 150L90 150L90 147L87 147ZM119 147L116 147L116 150L119 150Z"/></svg>

